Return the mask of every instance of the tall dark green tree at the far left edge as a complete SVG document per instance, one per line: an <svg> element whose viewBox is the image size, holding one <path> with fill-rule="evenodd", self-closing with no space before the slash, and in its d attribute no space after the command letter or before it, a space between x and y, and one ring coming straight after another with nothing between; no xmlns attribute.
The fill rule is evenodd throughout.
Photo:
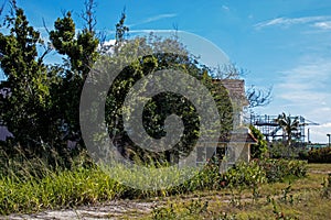
<svg viewBox="0 0 331 220"><path fill-rule="evenodd" d="M1 86L10 89L10 95L2 97L1 111L15 140L28 147L51 139L50 78L36 51L42 43L40 33L14 1L12 9L13 14L6 19L10 33L0 33L0 65L7 76Z"/></svg>

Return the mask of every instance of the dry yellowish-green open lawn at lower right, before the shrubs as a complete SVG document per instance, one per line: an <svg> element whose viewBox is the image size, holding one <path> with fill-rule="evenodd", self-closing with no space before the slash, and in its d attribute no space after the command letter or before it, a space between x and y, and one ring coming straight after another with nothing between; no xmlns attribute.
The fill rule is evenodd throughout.
<svg viewBox="0 0 331 220"><path fill-rule="evenodd" d="M258 189L171 197L142 219L331 219L331 164L309 164L308 176ZM330 180L330 179L329 179ZM324 183L324 184L323 184Z"/></svg>

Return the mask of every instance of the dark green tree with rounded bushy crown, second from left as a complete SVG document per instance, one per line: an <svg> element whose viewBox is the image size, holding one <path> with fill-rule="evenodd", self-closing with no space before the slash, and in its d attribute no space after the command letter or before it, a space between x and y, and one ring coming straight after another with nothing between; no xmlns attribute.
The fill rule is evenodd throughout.
<svg viewBox="0 0 331 220"><path fill-rule="evenodd" d="M50 40L54 48L61 54L66 55L64 65L58 69L61 76L58 84L52 87L53 101L57 116L65 127L66 139L79 141L83 145L79 129L79 100L84 81L89 73L98 53L98 38L95 33L95 19L93 0L85 2L86 11L83 12L83 20L86 25L82 32L76 33L75 22L71 12L64 18L57 19L54 30L50 32Z"/></svg>

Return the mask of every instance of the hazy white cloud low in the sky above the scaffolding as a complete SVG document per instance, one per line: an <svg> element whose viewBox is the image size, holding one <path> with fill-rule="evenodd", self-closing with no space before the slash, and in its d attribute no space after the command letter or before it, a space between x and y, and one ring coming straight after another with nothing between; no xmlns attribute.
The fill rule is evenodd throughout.
<svg viewBox="0 0 331 220"><path fill-rule="evenodd" d="M295 112L320 123L309 127L312 142L325 143L331 133L331 58L305 59L298 66L284 70L275 85L275 97L284 111Z"/></svg>

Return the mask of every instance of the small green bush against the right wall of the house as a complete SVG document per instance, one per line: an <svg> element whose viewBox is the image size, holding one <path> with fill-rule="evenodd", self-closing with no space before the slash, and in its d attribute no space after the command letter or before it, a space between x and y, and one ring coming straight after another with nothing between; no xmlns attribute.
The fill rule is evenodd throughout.
<svg viewBox="0 0 331 220"><path fill-rule="evenodd" d="M249 125L249 130L255 139L257 139L257 144L250 145L250 155L253 158L263 158L268 152L268 143L265 140L263 133L256 129L254 125Z"/></svg>

